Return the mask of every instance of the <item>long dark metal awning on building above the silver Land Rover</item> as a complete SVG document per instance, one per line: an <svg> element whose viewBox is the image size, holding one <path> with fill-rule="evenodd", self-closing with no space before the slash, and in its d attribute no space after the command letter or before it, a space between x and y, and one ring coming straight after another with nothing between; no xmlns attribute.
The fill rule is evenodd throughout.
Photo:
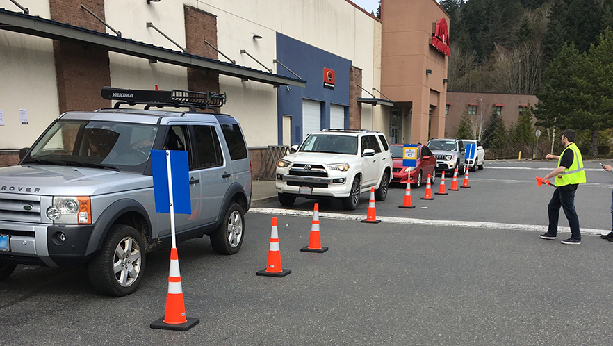
<svg viewBox="0 0 613 346"><path fill-rule="evenodd" d="M233 76L240 79L250 79L272 85L295 85L303 87L306 81L292 77L272 74L270 72L252 69L220 60L195 56L182 51L174 51L164 47L154 46L128 38L120 38L88 30L70 24L63 24L54 20L40 18L38 16L24 15L0 8L0 30L15 31L41 38L53 40L78 42L81 44L93 44L109 51L138 56L139 58L158 60L163 63L191 67L194 69L206 69L225 76Z"/></svg>

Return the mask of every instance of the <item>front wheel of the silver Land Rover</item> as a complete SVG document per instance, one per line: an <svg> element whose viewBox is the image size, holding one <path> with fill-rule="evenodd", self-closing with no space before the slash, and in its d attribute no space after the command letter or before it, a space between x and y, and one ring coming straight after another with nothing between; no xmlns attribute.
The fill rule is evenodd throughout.
<svg viewBox="0 0 613 346"><path fill-rule="evenodd" d="M92 286L103 295L133 293L145 274L145 257L140 233L125 224L113 224L102 248L88 264ZM120 270L115 270L115 263L122 264Z"/></svg>

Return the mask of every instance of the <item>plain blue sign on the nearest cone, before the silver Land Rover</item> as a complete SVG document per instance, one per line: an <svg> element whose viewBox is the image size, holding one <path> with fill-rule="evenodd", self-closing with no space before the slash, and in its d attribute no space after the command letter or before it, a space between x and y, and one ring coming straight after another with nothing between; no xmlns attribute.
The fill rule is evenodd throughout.
<svg viewBox="0 0 613 346"><path fill-rule="evenodd" d="M154 196L157 213L170 213L168 192L168 167L166 151L151 151L151 168L154 179ZM187 151L170 150L170 176L172 179L172 205L174 213L191 214L190 174Z"/></svg>

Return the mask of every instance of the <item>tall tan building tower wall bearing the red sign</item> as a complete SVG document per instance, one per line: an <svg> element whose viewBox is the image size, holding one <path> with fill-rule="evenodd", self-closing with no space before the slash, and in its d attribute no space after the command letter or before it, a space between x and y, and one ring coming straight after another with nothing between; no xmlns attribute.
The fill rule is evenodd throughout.
<svg viewBox="0 0 613 346"><path fill-rule="evenodd" d="M433 24L449 16L434 0L382 0L381 11L381 87L402 107L402 141L442 137L448 58L430 42Z"/></svg>

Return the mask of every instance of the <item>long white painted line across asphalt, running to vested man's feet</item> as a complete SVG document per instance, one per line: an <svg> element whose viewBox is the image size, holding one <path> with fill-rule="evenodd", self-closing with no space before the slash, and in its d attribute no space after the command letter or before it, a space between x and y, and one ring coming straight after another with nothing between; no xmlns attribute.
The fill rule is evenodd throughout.
<svg viewBox="0 0 613 346"><path fill-rule="evenodd" d="M268 214L268 215L286 215L286 216L305 216L312 217L312 211L297 211L292 209L279 209L279 208L250 208L250 213ZM364 218L363 215L353 214L340 214L340 213L322 213L319 212L319 217L335 220L352 220L360 221ZM377 220L390 224L423 224L425 226L443 226L443 227L473 227L480 229L514 229L519 231L534 231L534 232L546 232L547 226L533 225L533 224L505 224L500 222L480 222L480 221L452 221L452 220L425 220L416 219L414 217L390 217L390 216L377 216ZM559 227L559 232L571 233L569 227ZM581 233L584 234L605 234L609 233L608 229L581 229Z"/></svg>

